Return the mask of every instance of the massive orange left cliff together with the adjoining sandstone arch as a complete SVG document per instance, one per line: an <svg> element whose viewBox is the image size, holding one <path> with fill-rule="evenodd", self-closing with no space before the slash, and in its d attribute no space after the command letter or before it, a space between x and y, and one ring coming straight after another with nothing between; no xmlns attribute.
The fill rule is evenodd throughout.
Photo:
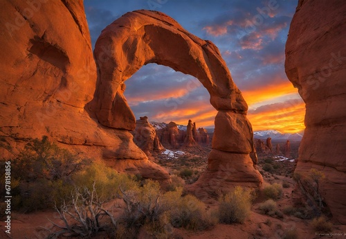
<svg viewBox="0 0 346 239"><path fill-rule="evenodd" d="M218 110L208 169L196 186L262 184L249 156L248 107L212 42L161 12L138 10L102 30L93 57L82 1L3 1L1 22L0 136L11 145L48 135L117 170L169 179L132 140L136 120L124 96L125 80L157 63L198 78ZM12 153L1 148L3 157Z"/></svg>

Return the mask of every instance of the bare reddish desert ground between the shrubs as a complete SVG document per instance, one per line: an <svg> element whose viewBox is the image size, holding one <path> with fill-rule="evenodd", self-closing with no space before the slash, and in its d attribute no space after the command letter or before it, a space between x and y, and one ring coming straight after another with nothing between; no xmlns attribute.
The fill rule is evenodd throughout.
<svg viewBox="0 0 346 239"><path fill-rule="evenodd" d="M298 147L293 147L298 150ZM207 165L210 148L193 148L188 150L166 150L165 154L153 154L154 160L167 168L171 175L178 175L186 184L195 182ZM298 152L297 152L298 153ZM293 154L295 154L293 152ZM344 238L346 227L334 224L331 233L334 236L323 236L311 227L311 211L304 207L293 206L292 192L295 186L293 168L295 161L278 161L271 154L259 154L257 164L264 178L264 187L269 184L283 185L282 197L276 201L275 213L264 214L260 209L266 201L264 193L257 191L255 201L251 207L251 214L243 224L217 224L206 231L188 231L174 229L173 238ZM271 167L269 167L270 165ZM191 174L189 173L191 172ZM125 204L121 200L107 203L107 207L120 213ZM217 202L206 204L206 210L217 208ZM55 211L44 211L30 214L14 213L12 215L12 238L45 238L47 232L42 227L50 227L51 222L57 222ZM3 228L4 222L0 222ZM2 234L1 234L2 233ZM6 238L3 229L1 238ZM24 236L25 235L25 236ZM100 233L97 238L107 238ZM146 238L142 236L140 238Z"/></svg>

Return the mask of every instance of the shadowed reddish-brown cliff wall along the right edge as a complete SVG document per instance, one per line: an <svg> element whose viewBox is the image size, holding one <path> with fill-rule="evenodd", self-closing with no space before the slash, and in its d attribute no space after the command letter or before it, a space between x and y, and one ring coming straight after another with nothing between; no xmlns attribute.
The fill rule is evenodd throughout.
<svg viewBox="0 0 346 239"><path fill-rule="evenodd" d="M320 193L346 224L346 2L300 0L286 42L285 70L306 103L295 172L325 174Z"/></svg>

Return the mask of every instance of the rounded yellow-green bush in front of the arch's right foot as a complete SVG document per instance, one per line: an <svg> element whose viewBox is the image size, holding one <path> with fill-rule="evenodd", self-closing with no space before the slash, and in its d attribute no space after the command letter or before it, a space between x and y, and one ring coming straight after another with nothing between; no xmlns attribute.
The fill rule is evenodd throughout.
<svg viewBox="0 0 346 239"><path fill-rule="evenodd" d="M220 222L243 223L250 213L251 192L237 186L234 191L221 197L219 203Z"/></svg>

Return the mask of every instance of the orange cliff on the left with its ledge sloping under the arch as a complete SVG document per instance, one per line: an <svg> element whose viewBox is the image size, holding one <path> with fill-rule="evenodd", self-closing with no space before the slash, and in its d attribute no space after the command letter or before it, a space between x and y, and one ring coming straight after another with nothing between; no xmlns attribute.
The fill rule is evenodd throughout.
<svg viewBox="0 0 346 239"><path fill-rule="evenodd" d="M0 11L0 136L11 146L0 147L0 158L14 157L30 138L46 135L117 170L170 179L128 130L100 125L85 107L97 73L82 1L6 0ZM122 98L115 99L121 105Z"/></svg>

